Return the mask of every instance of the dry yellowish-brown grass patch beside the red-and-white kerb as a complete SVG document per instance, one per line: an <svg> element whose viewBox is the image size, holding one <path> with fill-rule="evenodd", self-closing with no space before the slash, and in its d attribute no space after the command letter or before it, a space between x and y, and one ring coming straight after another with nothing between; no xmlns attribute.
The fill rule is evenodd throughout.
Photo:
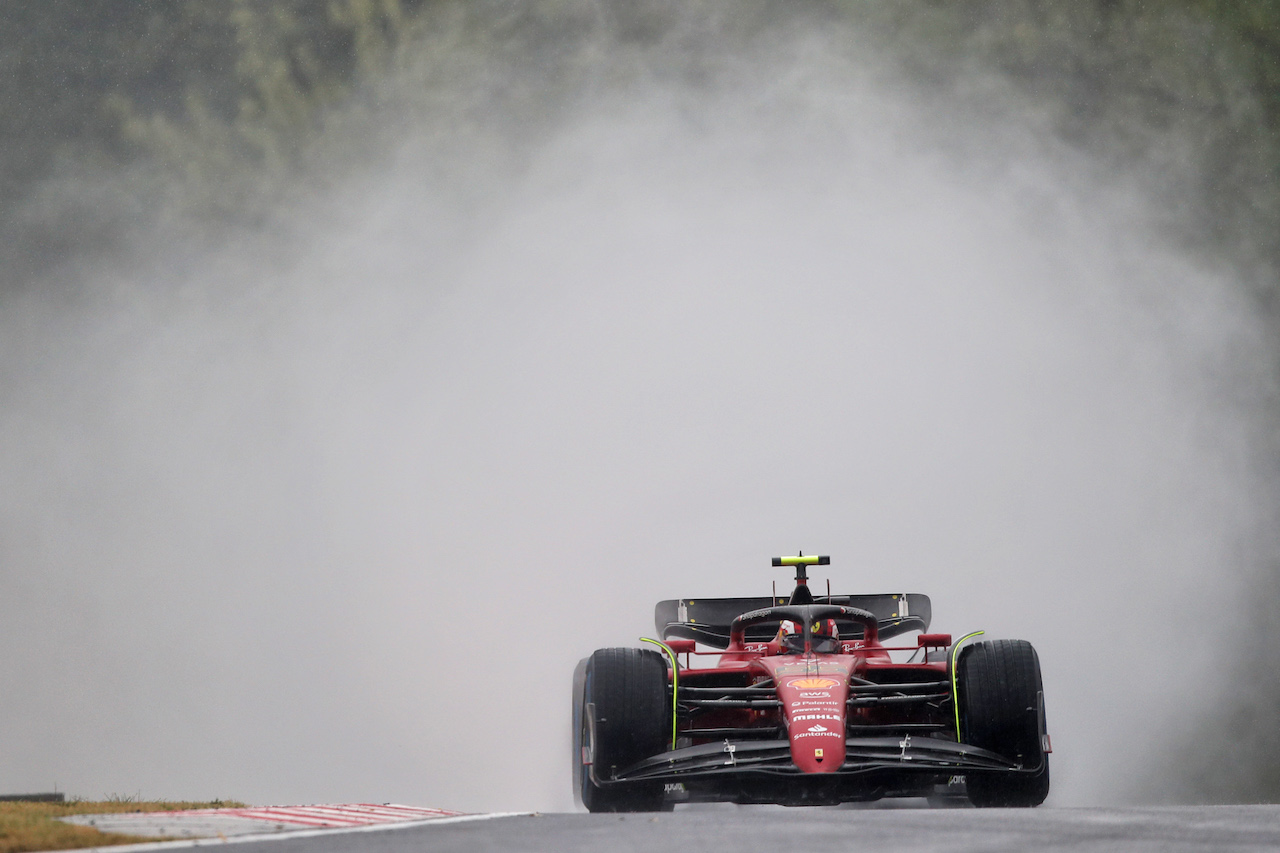
<svg viewBox="0 0 1280 853"><path fill-rule="evenodd" d="M77 826L58 820L68 815L114 815L120 812L175 812L186 808L237 808L243 803L216 799L210 803L142 803L131 799L65 803L0 802L0 853L26 850L70 850L82 847L157 841L154 836L100 833L92 826Z"/></svg>

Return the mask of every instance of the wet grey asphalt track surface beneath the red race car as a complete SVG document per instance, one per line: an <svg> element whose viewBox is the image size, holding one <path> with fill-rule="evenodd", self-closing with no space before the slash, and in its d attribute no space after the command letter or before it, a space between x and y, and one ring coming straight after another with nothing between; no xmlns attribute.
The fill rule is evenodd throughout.
<svg viewBox="0 0 1280 853"><path fill-rule="evenodd" d="M517 816L237 847L238 853L1280 850L1280 806L980 811L730 807L663 815Z"/></svg>

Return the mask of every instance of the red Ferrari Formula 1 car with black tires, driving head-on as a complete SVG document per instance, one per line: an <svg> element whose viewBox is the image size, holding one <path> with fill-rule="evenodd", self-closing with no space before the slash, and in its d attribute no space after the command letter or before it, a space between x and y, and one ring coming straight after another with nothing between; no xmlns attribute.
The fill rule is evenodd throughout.
<svg viewBox="0 0 1280 853"><path fill-rule="evenodd" d="M808 567L828 564L774 557L795 566L790 598L659 602L660 639L644 640L654 648L582 660L579 803L1044 802L1051 748L1030 643L931 634L927 596L815 597ZM913 631L914 646L884 644Z"/></svg>

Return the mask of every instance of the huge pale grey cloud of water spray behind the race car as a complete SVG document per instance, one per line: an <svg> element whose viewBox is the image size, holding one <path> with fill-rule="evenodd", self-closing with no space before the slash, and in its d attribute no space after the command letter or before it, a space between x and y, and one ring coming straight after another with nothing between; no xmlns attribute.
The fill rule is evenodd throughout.
<svg viewBox="0 0 1280 853"><path fill-rule="evenodd" d="M0 788L567 808L575 662L797 548L1034 643L1051 802L1193 731L1272 506L1231 272L856 31L582 20L6 297Z"/></svg>

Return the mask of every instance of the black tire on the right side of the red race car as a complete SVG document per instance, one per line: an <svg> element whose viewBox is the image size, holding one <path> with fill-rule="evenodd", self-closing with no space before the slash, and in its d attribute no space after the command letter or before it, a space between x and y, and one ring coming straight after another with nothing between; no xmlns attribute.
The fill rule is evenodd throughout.
<svg viewBox="0 0 1280 853"><path fill-rule="evenodd" d="M960 652L956 663L960 740L1019 762L1027 771L966 775L978 808L1039 806L1048 797L1043 751L1039 657L1027 640L986 640Z"/></svg>

